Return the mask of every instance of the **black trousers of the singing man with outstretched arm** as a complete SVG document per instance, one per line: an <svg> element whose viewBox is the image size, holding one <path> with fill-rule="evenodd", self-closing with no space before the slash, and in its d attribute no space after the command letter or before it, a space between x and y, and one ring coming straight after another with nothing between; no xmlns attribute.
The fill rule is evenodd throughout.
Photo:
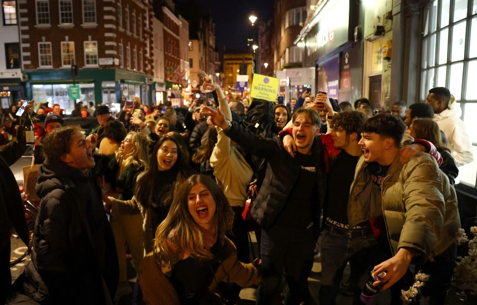
<svg viewBox="0 0 477 305"><path fill-rule="evenodd" d="M298 305L309 298L308 277L313 267L315 239L313 227L294 229L274 226L262 229L261 235L262 281L257 291L256 304L274 304L279 293L282 273L289 291L286 305Z"/></svg>

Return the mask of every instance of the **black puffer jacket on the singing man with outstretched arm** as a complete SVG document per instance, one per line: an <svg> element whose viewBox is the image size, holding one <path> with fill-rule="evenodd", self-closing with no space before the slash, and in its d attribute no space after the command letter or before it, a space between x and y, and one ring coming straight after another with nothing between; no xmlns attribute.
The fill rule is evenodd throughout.
<svg viewBox="0 0 477 305"><path fill-rule="evenodd" d="M265 179L258 191L251 215L265 230L275 223L277 216L287 202L288 195L298 179L300 164L297 159L283 148L283 142L275 137L259 137L247 129L233 123L225 134L242 146L247 152L268 160ZM313 219L318 223L324 202L326 177L323 166L323 145L315 137L312 154L316 157L317 182L319 196L313 203ZM315 226L318 233L318 227Z"/></svg>

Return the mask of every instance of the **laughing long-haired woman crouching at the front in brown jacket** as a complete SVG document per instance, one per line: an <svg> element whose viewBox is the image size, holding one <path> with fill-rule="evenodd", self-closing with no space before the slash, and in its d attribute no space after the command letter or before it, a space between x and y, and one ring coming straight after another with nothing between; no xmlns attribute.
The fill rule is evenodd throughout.
<svg viewBox="0 0 477 305"><path fill-rule="evenodd" d="M257 269L240 263L226 237L234 213L217 183L193 175L182 183L141 262L138 282L146 304L223 304L217 285L257 284ZM220 295L220 291L218 292Z"/></svg>

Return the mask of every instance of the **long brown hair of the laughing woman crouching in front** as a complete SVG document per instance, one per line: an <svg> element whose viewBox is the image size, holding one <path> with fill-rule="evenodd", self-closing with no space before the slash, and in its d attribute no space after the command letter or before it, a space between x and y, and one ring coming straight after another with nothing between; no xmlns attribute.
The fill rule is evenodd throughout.
<svg viewBox="0 0 477 305"><path fill-rule="evenodd" d="M167 217L156 230L154 253L163 253L166 257L174 257L174 250L168 243L168 235L175 230L176 245L182 251L195 258L211 258L212 253L205 244L205 239L199 226L194 222L188 208L188 196L190 189L197 183L207 187L216 204L215 220L217 238L223 239L227 232L232 229L234 212L217 183L205 175L193 175L189 177L174 194L174 200Z"/></svg>

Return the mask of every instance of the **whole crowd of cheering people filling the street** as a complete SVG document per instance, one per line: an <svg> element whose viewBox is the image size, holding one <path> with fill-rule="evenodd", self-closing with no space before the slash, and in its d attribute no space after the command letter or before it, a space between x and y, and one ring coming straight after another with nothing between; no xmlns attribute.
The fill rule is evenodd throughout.
<svg viewBox="0 0 477 305"><path fill-rule="evenodd" d="M229 101L207 77L203 89L213 99L184 111L137 99L116 118L108 106L77 105L75 116L97 119L88 135L62 126L59 105L38 107L39 214L31 262L12 287L6 232L29 242L21 198L6 191L18 189L8 165L26 146L21 129L2 137L0 303L236 304L241 287L258 285L257 304L307 304L317 249L319 304L336 303L348 263L353 304L371 271L384 274L374 285L391 289L392 304L417 271L430 276L420 304L444 303L460 228L454 185L473 161L448 89L379 114L364 98ZM2 124L22 120L11 113Z"/></svg>

